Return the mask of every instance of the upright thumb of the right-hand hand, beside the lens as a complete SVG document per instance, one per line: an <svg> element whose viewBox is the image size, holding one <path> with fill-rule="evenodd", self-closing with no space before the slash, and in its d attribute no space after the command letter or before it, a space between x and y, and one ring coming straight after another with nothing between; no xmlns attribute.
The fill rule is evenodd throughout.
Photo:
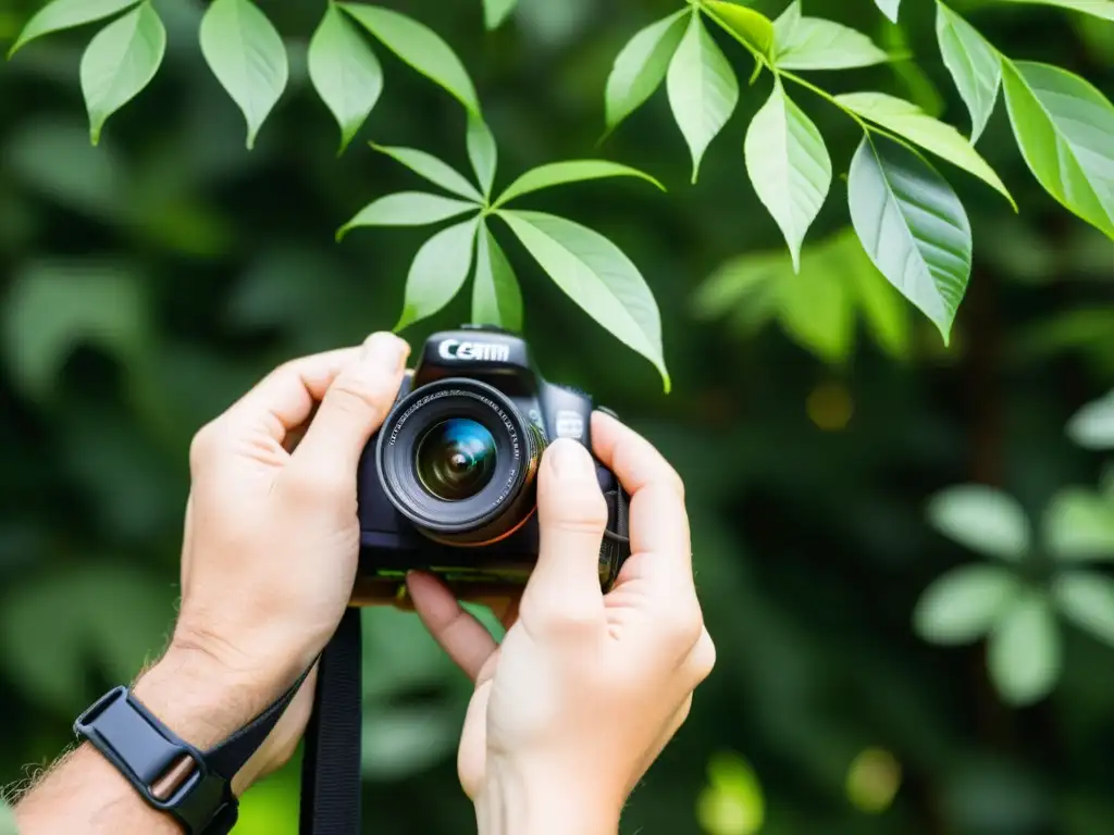
<svg viewBox="0 0 1114 835"><path fill-rule="evenodd" d="M599 547L607 503L588 450L559 439L538 473L538 562L522 595L521 617L531 628L561 629L603 621Z"/></svg>

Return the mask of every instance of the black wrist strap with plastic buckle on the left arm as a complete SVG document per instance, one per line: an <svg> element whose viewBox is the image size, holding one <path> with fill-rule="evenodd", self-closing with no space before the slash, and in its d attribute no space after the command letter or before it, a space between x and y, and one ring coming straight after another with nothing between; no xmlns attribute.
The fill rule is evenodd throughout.
<svg viewBox="0 0 1114 835"><path fill-rule="evenodd" d="M189 835L227 835L240 809L232 778L263 745L307 675L309 670L207 753L166 727L127 687L97 699L74 723L74 731L100 752L149 806L172 815ZM164 780L170 783L168 793L158 790Z"/></svg>

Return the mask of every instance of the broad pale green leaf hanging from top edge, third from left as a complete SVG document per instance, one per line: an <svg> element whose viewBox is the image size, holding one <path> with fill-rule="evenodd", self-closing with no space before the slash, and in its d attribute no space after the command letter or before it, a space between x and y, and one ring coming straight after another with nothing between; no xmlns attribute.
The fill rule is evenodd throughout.
<svg viewBox="0 0 1114 835"><path fill-rule="evenodd" d="M202 52L247 121L247 147L278 101L290 68L278 32L251 0L213 0L201 26Z"/></svg>

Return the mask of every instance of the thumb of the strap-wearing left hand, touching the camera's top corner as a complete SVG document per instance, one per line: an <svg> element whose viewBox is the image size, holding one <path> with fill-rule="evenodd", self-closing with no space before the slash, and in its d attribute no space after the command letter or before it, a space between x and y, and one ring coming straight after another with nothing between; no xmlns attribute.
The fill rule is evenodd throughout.
<svg viewBox="0 0 1114 835"><path fill-rule="evenodd" d="M410 346L394 334L369 336L359 356L325 391L294 452L295 461L329 469L343 466L345 473L354 475L364 446L394 403L409 355Z"/></svg>

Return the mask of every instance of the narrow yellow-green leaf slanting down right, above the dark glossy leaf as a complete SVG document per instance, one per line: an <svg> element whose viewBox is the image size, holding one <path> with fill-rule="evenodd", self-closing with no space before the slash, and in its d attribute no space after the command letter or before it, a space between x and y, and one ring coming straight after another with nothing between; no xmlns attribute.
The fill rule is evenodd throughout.
<svg viewBox="0 0 1114 835"><path fill-rule="evenodd" d="M925 150L942 157L952 165L973 174L1001 194L1017 209L1005 184L979 156L974 146L950 125L934 119L910 101L883 92L850 92L836 100L864 119L892 130Z"/></svg>

